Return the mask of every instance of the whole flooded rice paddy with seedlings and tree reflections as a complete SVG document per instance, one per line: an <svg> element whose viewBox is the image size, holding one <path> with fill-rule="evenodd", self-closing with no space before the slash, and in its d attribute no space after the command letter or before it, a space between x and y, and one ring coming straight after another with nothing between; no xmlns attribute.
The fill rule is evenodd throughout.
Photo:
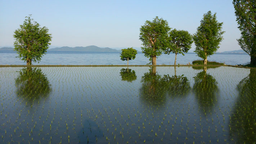
<svg viewBox="0 0 256 144"><path fill-rule="evenodd" d="M3 67L0 143L255 144L256 69Z"/></svg>

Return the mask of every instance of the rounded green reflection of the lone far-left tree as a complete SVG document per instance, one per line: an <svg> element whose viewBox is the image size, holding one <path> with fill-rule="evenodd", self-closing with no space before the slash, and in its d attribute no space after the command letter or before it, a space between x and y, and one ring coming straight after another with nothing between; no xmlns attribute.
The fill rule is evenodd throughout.
<svg viewBox="0 0 256 144"><path fill-rule="evenodd" d="M32 102L47 96L50 91L50 83L40 68L28 67L19 71L18 77L15 79L17 87L17 95Z"/></svg>

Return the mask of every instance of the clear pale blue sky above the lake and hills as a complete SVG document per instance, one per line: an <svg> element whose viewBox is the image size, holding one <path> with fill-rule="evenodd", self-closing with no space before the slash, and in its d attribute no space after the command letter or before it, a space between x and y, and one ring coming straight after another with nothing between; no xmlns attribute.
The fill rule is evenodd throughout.
<svg viewBox="0 0 256 144"><path fill-rule="evenodd" d="M226 31L218 51L241 49L231 0L0 0L0 46L13 45L14 31L29 14L49 29L52 46L125 48L142 46L139 29L146 20L158 16L193 34L209 10Z"/></svg>

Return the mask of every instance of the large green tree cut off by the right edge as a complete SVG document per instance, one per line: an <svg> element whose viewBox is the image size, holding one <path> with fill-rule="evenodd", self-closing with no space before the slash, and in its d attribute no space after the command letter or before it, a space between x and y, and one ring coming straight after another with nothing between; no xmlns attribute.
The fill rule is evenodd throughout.
<svg viewBox="0 0 256 144"><path fill-rule="evenodd" d="M256 0L233 0L233 5L242 34L238 44L250 55L251 64L256 66Z"/></svg>

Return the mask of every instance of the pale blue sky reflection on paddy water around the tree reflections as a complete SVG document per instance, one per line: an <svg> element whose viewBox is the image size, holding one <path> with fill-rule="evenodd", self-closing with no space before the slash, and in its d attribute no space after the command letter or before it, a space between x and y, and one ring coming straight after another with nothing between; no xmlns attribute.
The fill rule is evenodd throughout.
<svg viewBox="0 0 256 144"><path fill-rule="evenodd" d="M141 87L142 76L149 72L149 67L129 67L137 77L131 82L122 81L122 68L127 67L41 67L51 92L27 104L27 99L19 97L15 87L15 79L22 68L0 68L0 103L3 103L0 123L5 123L0 126L0 133L5 134L6 130L2 140L13 138L14 141L31 142L33 137L35 141L48 143L52 136L51 143L60 140L68 143L69 135L72 143L86 143L87 138L91 143L95 143L96 138L98 143L134 143L135 140L150 143L152 139L161 143L162 138L166 143L170 139L175 143L176 137L179 143L208 143L210 140L216 143L218 139L219 143L225 139L234 142L231 141L234 136L229 135L229 116L235 111L237 85L250 74L250 69L207 69L207 74L217 82L218 93L210 112L203 112L193 90L181 96L163 94L163 102L148 103L141 96ZM161 77L175 75L174 67L156 67L156 71ZM187 77L191 89L195 84L193 77L202 71L176 67L176 75Z"/></svg>

